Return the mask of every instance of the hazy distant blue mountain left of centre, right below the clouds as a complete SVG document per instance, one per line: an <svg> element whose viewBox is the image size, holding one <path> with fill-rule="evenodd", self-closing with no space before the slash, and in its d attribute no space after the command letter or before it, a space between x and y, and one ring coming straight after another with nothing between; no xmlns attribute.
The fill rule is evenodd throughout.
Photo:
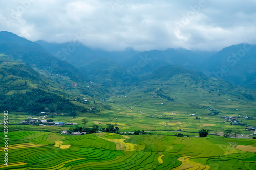
<svg viewBox="0 0 256 170"><path fill-rule="evenodd" d="M44 47L53 56L65 59L77 68L100 60L110 60L115 61L118 64L122 64L127 60L127 58L139 53L132 48L126 48L124 51L109 52L100 49L92 49L84 46L83 44L74 45L73 42L48 43L43 40L38 40L36 43ZM74 46L75 49L71 49L70 46Z"/></svg>

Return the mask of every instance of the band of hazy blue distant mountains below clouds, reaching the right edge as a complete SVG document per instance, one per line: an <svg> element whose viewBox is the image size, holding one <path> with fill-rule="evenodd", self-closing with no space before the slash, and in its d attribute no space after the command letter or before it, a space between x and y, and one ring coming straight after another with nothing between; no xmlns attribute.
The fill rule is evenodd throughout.
<svg viewBox="0 0 256 170"><path fill-rule="evenodd" d="M36 43L46 48L57 58L61 58L58 54L63 53L62 50L69 45L68 42L57 44L36 41ZM218 79L224 79L237 85L255 89L255 55L256 47L253 44L232 45L218 52L191 51L182 48L145 52L137 52L132 48L128 48L125 51L109 52L93 50L81 44L76 47L74 52L69 52L69 55L65 56L65 60L81 69L85 75L91 76L92 79L93 76L90 72L95 74L95 71L100 68L102 68L102 72L105 72L103 77L108 77L108 73L113 73L115 68L116 71L122 70L121 72L129 69L133 71L134 68L133 72L135 74L133 74L133 77L139 77L153 72L160 66L180 65L188 69L200 70ZM147 63L135 70L139 60L141 60L140 57L146 57L148 59ZM121 75L121 72L117 74L117 77Z"/></svg>

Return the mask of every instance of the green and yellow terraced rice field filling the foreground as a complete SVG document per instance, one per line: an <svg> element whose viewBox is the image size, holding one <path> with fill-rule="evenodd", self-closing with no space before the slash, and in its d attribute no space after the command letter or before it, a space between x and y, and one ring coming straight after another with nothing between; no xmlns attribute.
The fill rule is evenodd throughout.
<svg viewBox="0 0 256 170"><path fill-rule="evenodd" d="M253 139L27 131L9 136L9 166L0 169L256 169Z"/></svg>

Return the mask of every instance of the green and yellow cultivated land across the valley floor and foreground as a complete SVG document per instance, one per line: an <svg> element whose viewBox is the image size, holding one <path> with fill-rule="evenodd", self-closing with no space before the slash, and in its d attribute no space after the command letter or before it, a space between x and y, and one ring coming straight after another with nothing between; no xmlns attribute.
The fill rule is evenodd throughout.
<svg viewBox="0 0 256 170"><path fill-rule="evenodd" d="M209 105L205 100L199 99L198 92L195 91L189 95L191 95L189 101L183 102L177 94L177 96L173 95L175 102L166 102L159 96L152 98L151 94L135 88L129 94L113 96L105 101L111 106L110 110L101 110L96 113L78 112L75 118L70 116L51 118L58 122L78 123L79 126L83 126L82 119L87 118L89 121L86 127L92 127L93 124L106 127L106 124L111 123L117 124L121 132L150 131L148 133L151 134L147 135L113 133L94 133L82 136L60 135L57 132L68 130L72 125L63 127L18 125L21 120L30 115L10 112L8 155L10 166L2 165L0 168L255 169L256 141L248 136L254 132L245 131L245 126L223 123L224 119L219 118L220 115L253 116L253 102L228 100L230 96L225 96L223 97L223 99L227 98L225 101L212 102L210 105L210 108L216 108L221 113L210 116L208 109L197 108ZM215 92L204 93L204 98L215 99L215 95ZM96 104L93 104L91 100L89 102L87 107L99 106L98 101ZM196 114L200 119L196 120L196 116L190 114ZM3 117L3 113L0 116ZM41 116L33 117L40 118ZM255 126L253 118L241 120L248 125ZM209 129L211 134L217 131L219 135L222 135L224 130L236 128L243 136L239 134L239 139L214 135L199 138L195 137L198 136L197 133L190 133L198 132L202 128ZM180 130L188 132L179 132ZM190 137L172 136L177 133ZM0 136L2 137L3 134ZM3 143L3 138L0 143ZM3 147L4 144L0 146ZM2 150L0 148L0 151L0 156L3 157L3 148Z"/></svg>

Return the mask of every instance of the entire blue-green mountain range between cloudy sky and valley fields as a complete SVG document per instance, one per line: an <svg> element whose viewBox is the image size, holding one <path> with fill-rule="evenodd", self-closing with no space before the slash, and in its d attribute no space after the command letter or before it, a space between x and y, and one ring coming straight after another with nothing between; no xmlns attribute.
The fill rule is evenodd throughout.
<svg viewBox="0 0 256 170"><path fill-rule="evenodd" d="M6 96L15 95L12 99L20 105L14 110L27 111L17 100L18 96L25 98L26 93L44 98L38 101L45 103L31 112L42 107L61 111L64 104L76 111L83 110L81 106L89 109L84 101L77 101L78 98L98 100L97 107L109 108L105 101L113 102L114 98L118 101L119 95L139 93L155 93L168 102L191 101L193 97L195 103L203 99L206 104L226 98L243 103L256 97L253 91L256 89L256 48L250 44L232 45L219 52L172 48L108 52L80 44L64 58L59 57L69 44L31 42L1 31L0 92L4 101L1 108L10 102ZM35 89L47 92L47 96ZM38 101L33 103L32 94L27 100L35 106ZM49 95L53 96L52 102ZM55 105L53 101L60 99L65 102ZM72 102L74 100L76 102Z"/></svg>

